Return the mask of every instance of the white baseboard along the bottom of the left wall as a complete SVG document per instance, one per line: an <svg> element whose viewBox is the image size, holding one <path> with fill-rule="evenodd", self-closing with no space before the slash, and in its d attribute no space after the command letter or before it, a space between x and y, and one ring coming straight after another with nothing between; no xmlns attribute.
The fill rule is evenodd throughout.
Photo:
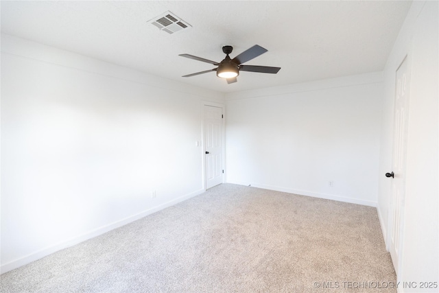
<svg viewBox="0 0 439 293"><path fill-rule="evenodd" d="M56 253L59 250L71 247L71 246L78 244L80 242L84 242L84 241L91 239L93 237L102 235L108 231L115 229L115 228L119 228L121 226L129 224L130 222L134 222L136 220L139 220L147 215L150 215L152 213L156 213L157 211L161 211L162 209L165 209L167 207L171 207L174 204L178 204L178 202L188 200L189 198L193 198L193 196L198 196L198 195L202 194L203 192L204 192L204 189L200 189L198 191L191 192L190 194L186 194L185 196L180 196L179 198L175 198L174 200L169 200L169 202L159 204L158 206L152 207L151 209L141 211L140 213L137 213L135 215L130 215L127 218L123 218L121 220L118 220L117 222L112 222L108 225L101 226L101 227L96 228L92 231L88 231L87 233L73 237L65 242L60 242L58 244L54 244L54 245L49 246L47 248L43 248L41 250L38 250L34 253L30 253L29 255L25 255L24 257L21 257L19 259L16 259L14 261L10 261L9 263L5 263L5 264L1 265L0 272L1 272L1 274L3 274L4 272L9 272L10 270L14 270L16 268L24 266L27 263L31 263L32 261L36 261L38 259L46 257L47 255L51 255L52 253Z"/></svg>

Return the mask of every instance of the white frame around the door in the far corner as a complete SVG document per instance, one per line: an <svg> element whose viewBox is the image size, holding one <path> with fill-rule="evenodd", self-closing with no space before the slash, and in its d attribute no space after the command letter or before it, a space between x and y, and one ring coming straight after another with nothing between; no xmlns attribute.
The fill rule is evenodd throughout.
<svg viewBox="0 0 439 293"><path fill-rule="evenodd" d="M222 169L224 169L224 174L222 174L222 183L225 182L224 178L226 178L226 105L220 104L217 102L210 102L210 101L201 101L201 145L202 145L202 185L203 190L206 191L206 136L205 136L205 129L204 129L204 106L212 106L217 108L222 108Z"/></svg>

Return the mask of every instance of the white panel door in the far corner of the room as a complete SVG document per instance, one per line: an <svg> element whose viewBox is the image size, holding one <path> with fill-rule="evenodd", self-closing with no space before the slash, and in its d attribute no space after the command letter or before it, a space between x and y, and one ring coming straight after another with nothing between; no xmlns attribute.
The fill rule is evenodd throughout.
<svg viewBox="0 0 439 293"><path fill-rule="evenodd" d="M222 108L204 106L206 189L222 183Z"/></svg>

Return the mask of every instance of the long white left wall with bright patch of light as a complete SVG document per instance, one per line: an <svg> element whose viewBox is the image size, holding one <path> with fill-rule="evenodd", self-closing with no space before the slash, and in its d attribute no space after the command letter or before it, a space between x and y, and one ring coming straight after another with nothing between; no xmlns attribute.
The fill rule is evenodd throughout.
<svg viewBox="0 0 439 293"><path fill-rule="evenodd" d="M2 272L200 194L202 100L224 102L2 35Z"/></svg>

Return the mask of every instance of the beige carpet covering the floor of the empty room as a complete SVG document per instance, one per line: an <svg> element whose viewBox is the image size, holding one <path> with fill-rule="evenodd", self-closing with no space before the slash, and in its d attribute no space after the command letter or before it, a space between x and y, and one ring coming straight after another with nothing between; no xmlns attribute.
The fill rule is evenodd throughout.
<svg viewBox="0 0 439 293"><path fill-rule="evenodd" d="M377 211L223 184L1 275L1 292L396 292Z"/></svg>

